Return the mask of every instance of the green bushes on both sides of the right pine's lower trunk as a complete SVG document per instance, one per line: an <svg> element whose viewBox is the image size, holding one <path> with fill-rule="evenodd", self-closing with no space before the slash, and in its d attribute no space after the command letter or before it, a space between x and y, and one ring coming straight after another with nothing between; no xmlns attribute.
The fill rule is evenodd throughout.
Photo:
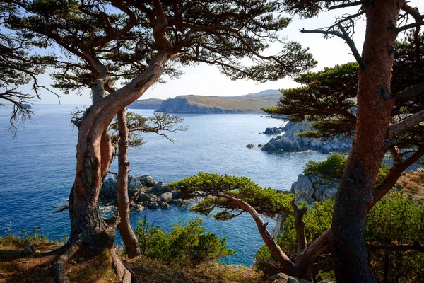
<svg viewBox="0 0 424 283"><path fill-rule="evenodd" d="M304 217L308 243L314 241L331 226L334 201L316 202L317 209L310 209ZM276 237L281 249L290 257L296 254L297 238L294 216L284 221L284 233ZM367 215L365 241L372 245L412 245L424 243L424 200L412 200L391 190L377 202ZM418 250L368 249L372 273L379 282L422 282L424 278L424 254ZM271 251L262 246L256 255L256 267L267 275L279 272L278 262ZM318 260L320 260L318 262ZM316 259L312 262L315 279L331 278L331 260Z"/></svg>

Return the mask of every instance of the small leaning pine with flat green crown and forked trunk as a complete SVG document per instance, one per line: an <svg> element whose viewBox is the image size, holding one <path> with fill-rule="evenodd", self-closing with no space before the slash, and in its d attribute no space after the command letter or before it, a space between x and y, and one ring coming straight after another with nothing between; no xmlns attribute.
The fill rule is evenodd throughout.
<svg viewBox="0 0 424 283"><path fill-rule="evenodd" d="M299 208L293 194L262 188L247 177L234 177L200 172L198 175L170 183L184 198L201 198L192 210L217 220L233 219L243 212L252 216L265 245L278 261L278 270L302 279L313 281L312 262L329 246L331 231L322 233L312 243L307 242L303 216L307 207ZM275 218L281 214L295 216L298 248L295 255L288 255L271 236L268 222L261 215Z"/></svg>

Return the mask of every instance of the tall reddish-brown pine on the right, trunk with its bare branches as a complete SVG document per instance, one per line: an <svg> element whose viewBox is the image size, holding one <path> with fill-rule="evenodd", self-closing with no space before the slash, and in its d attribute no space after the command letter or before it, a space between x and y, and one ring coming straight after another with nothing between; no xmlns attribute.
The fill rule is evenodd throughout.
<svg viewBox="0 0 424 283"><path fill-rule="evenodd" d="M344 121L339 126L355 125L355 138L336 195L331 226L331 247L338 282L374 282L365 249L365 216L375 202L393 187L404 169L424 153L424 145L420 144L408 157L402 154L397 147L398 144L393 142L394 137L404 135L413 127L420 132L419 125L424 120L424 112L416 108L413 112L399 112L399 115L392 115L396 111L406 109L399 106L411 98L423 96L424 83L404 81L404 88L396 90L391 86L396 38L399 34L415 28L413 44L418 50L419 29L420 25L424 25L423 15L418 8L413 8L409 2L402 0L283 0L282 2L289 13L306 18L316 16L325 10L359 7L357 13L344 14L336 19L334 25L327 28L300 31L320 33L325 37L340 37L346 41L358 62L358 86L355 91L357 109L354 115L349 111L337 112L346 110L346 105L336 105L334 106L336 109L332 111L343 117ZM352 40L355 22L361 17L366 18L362 54ZM411 110L416 105L412 103L408 107ZM420 139L417 135L409 138ZM379 166L388 150L393 156L394 165L382 183L375 186Z"/></svg>

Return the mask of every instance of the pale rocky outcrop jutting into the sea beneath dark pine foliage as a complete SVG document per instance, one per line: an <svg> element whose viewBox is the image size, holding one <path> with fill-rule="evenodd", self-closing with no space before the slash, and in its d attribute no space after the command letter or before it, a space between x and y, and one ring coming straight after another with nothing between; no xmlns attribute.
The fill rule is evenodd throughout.
<svg viewBox="0 0 424 283"><path fill-rule="evenodd" d="M285 131L283 135L273 137L261 148L261 150L273 152L317 150L321 151L323 154L328 154L329 152L351 149L353 141L352 139L346 139L343 136L331 139L299 137L297 135L299 132L313 131L309 122L288 122L288 124L283 128L283 131Z"/></svg>

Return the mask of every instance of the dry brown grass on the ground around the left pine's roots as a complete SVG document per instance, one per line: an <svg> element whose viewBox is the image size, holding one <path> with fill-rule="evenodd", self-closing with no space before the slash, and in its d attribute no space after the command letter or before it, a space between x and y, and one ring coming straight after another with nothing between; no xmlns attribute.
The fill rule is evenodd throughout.
<svg viewBox="0 0 424 283"><path fill-rule="evenodd" d="M43 241L30 243L23 239L8 236L0 238L0 283L53 283L51 266L55 256L25 257L21 250L31 244L37 252L46 252L58 248L58 243ZM84 255L76 255L76 259ZM102 253L93 258L76 262L71 260L66 265L66 273L71 282L117 282L112 270L112 259L108 253ZM156 260L140 257L129 260L124 258L126 264L136 273L139 282L145 283L209 283L209 282L242 282L265 283L269 279L242 265L218 265L210 263L189 268L179 265L164 265Z"/></svg>

